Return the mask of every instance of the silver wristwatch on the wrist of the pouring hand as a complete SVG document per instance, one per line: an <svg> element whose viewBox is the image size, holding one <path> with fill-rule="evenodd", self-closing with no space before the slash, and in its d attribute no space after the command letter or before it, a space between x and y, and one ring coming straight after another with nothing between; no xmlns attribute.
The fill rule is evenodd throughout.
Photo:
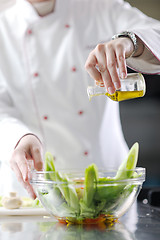
<svg viewBox="0 0 160 240"><path fill-rule="evenodd" d="M136 35L133 32L124 31L124 32L121 32L121 33L118 33L118 34L114 35L112 37L112 40L117 39L117 38L121 38L121 37L127 37L132 41L133 46L134 46L134 51L130 55L130 57L132 57L138 49L138 41L137 41Z"/></svg>

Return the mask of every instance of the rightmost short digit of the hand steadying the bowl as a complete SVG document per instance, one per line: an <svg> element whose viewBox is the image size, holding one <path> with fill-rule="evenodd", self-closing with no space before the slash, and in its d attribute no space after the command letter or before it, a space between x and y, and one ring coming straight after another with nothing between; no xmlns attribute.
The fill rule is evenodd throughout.
<svg viewBox="0 0 160 240"><path fill-rule="evenodd" d="M34 167L36 170L40 171L43 169L43 156L41 145L34 144L30 147L31 156L34 161Z"/></svg>

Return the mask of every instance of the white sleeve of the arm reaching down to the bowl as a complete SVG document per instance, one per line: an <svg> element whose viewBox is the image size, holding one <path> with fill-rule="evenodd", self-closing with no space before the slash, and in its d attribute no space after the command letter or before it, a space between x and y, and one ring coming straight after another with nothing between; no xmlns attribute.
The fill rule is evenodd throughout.
<svg viewBox="0 0 160 240"><path fill-rule="evenodd" d="M8 161L18 140L30 132L14 106L7 84L0 78L0 161Z"/></svg>

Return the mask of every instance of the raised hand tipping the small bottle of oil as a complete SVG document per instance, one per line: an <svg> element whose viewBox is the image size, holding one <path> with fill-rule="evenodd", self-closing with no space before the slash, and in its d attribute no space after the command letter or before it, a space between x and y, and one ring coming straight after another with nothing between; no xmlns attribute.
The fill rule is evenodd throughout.
<svg viewBox="0 0 160 240"><path fill-rule="evenodd" d="M138 38L138 50L134 57L141 55L143 48L143 42ZM113 94L121 87L119 77L127 77L126 58L130 57L133 51L133 43L127 37L98 44L89 54L85 68L97 85L105 86L107 91Z"/></svg>

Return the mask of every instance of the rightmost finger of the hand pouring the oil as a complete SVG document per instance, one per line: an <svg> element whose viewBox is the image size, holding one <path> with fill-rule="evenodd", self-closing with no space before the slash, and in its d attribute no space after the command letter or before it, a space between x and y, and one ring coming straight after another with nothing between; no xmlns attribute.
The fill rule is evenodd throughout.
<svg viewBox="0 0 160 240"><path fill-rule="evenodd" d="M119 68L119 76L122 79L124 79L124 78L127 77L125 49L122 45L117 45L115 51L116 51L117 65L118 65L118 68Z"/></svg>

